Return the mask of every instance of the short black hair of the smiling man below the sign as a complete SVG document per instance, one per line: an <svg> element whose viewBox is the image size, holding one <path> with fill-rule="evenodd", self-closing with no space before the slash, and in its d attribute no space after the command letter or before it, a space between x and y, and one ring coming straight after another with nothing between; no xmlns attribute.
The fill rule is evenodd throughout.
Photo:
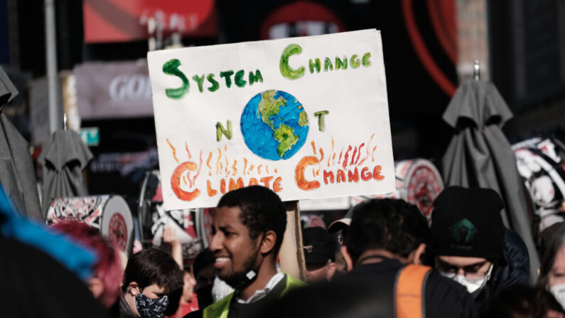
<svg viewBox="0 0 565 318"><path fill-rule="evenodd" d="M217 207L222 206L240 208L240 221L247 227L252 239L273 230L276 233L274 255L279 253L286 228L286 209L273 191L264 186L247 186L222 196Z"/></svg>

